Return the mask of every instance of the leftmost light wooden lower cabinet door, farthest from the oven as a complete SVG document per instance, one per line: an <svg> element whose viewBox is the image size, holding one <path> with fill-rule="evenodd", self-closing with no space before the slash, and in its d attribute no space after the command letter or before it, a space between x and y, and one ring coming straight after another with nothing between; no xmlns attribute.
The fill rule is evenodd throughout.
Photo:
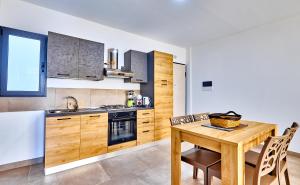
<svg viewBox="0 0 300 185"><path fill-rule="evenodd" d="M45 167L79 160L80 116L46 119Z"/></svg>

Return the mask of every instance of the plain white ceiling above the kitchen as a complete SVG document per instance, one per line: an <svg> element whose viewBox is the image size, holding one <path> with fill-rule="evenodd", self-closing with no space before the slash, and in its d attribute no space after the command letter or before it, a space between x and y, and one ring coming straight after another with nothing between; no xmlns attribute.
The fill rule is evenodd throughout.
<svg viewBox="0 0 300 185"><path fill-rule="evenodd" d="M300 14L300 0L24 0L142 36L192 46Z"/></svg>

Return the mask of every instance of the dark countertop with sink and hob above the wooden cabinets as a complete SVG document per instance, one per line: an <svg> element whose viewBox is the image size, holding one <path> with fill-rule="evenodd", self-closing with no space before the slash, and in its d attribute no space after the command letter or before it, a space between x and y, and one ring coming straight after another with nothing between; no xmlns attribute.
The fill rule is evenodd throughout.
<svg viewBox="0 0 300 185"><path fill-rule="evenodd" d="M137 111L137 110L147 110L153 109L153 107L132 107L130 109L126 109L128 111ZM52 111L60 111L60 112L52 112ZM103 108L86 108L86 109L78 109L77 111L67 111L67 109L55 109L55 110L46 110L46 117L59 117L59 116L72 116L72 115L83 115L83 114L97 114L97 113L106 113L106 112L120 112L125 111L124 109L107 111Z"/></svg>

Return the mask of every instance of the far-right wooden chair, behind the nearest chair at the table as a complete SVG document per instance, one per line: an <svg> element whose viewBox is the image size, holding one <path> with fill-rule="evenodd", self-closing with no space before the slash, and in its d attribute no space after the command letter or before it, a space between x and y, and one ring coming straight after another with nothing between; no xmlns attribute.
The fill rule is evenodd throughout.
<svg viewBox="0 0 300 185"><path fill-rule="evenodd" d="M288 168L287 168L287 151L289 148L289 145L291 143L291 140L293 139L297 129L299 128L299 124L294 122L292 126L289 128L289 136L286 142L284 143L282 147L282 151L280 154L279 158L279 166L280 166L280 175L279 178L285 176L285 182L287 185L290 185L290 179L289 179L289 173L288 173ZM248 165L251 165L255 167L257 165L259 153L254 152L254 151L249 151L246 153L245 160Z"/></svg>

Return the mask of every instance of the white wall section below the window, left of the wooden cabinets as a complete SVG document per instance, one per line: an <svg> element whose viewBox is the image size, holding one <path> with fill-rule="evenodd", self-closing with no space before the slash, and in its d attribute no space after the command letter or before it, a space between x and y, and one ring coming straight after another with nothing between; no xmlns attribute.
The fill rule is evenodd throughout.
<svg viewBox="0 0 300 185"><path fill-rule="evenodd" d="M44 111L0 113L0 165L44 155Z"/></svg>

